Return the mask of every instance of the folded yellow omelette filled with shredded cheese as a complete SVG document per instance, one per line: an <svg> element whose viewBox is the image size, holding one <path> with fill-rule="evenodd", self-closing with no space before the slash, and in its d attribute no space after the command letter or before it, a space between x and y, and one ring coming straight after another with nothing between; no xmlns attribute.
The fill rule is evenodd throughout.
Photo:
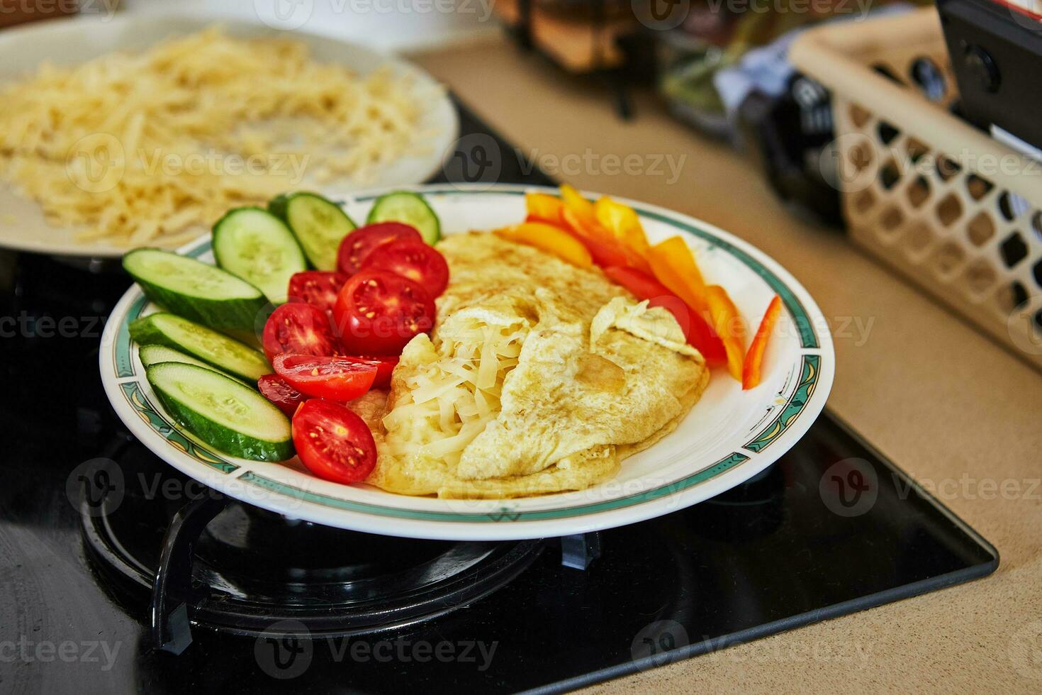
<svg viewBox="0 0 1042 695"><path fill-rule="evenodd" d="M491 232L438 250L450 281L433 330L405 346L390 393L351 403L376 440L367 482L453 498L582 490L701 396L709 370L673 316L596 268Z"/></svg>

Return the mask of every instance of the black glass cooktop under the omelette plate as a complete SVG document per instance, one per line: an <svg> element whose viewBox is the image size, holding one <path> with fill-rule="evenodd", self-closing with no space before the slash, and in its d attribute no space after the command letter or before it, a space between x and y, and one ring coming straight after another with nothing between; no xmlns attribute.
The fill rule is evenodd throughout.
<svg viewBox="0 0 1042 695"><path fill-rule="evenodd" d="M461 117L469 136L440 180L548 182ZM597 537L402 541L228 503L129 438L102 393L101 328L128 286L103 265L0 252L3 692L560 690L998 563L827 412L740 488ZM151 581L172 523L205 528L157 641ZM584 552L586 569L562 562ZM858 667L868 646L800 657Z"/></svg>

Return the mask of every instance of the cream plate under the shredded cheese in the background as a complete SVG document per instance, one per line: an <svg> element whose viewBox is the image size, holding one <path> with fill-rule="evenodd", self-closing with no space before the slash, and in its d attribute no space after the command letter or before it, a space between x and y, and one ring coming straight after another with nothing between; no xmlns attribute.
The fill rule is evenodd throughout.
<svg viewBox="0 0 1042 695"><path fill-rule="evenodd" d="M439 89L430 75L408 63L337 39L302 31L282 32L259 22L218 22L155 15L117 16L113 19L79 16L4 29L0 31L0 84L33 72L44 61L59 66L78 65L113 51L142 51L164 39L199 31L215 23L235 36L279 35L294 39L305 44L318 61L337 63L359 74L389 66L396 74L413 75L418 94ZM433 133L422 144L422 153L400 157L374 171L373 177L354 187L355 190L412 185L438 172L449 148L455 143L460 128L455 107L447 96L441 95L433 107L425 111L419 128ZM351 184L341 181L330 189L328 185L308 184L305 180L298 188L343 194L351 190ZM91 257L118 257L128 250L110 242L77 241L74 229L50 224L35 201L19 196L5 181L0 181L0 212L4 218L10 218L0 220L0 247ZM207 232L208 229L199 228L200 234Z"/></svg>

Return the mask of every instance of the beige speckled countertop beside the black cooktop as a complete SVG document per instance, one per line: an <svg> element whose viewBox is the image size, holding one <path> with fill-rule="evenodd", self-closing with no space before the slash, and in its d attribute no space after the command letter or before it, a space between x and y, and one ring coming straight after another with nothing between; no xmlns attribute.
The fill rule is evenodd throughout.
<svg viewBox="0 0 1042 695"><path fill-rule="evenodd" d="M598 690L1042 691L1042 377L842 235L794 218L752 165L674 123L651 95L638 95L637 118L624 123L597 80L568 77L505 41L413 57L526 162L581 189L701 218L784 264L834 331L830 407L1001 555L985 579ZM631 153L644 174L604 156ZM679 165L675 180L667 162Z"/></svg>

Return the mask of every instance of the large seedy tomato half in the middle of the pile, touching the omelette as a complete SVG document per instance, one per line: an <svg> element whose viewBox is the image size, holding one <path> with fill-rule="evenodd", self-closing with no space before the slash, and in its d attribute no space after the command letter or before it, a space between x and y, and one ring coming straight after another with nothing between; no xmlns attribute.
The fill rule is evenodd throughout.
<svg viewBox="0 0 1042 695"><path fill-rule="evenodd" d="M396 355L433 327L435 301L406 277L365 269L340 291L332 316L348 353Z"/></svg>

